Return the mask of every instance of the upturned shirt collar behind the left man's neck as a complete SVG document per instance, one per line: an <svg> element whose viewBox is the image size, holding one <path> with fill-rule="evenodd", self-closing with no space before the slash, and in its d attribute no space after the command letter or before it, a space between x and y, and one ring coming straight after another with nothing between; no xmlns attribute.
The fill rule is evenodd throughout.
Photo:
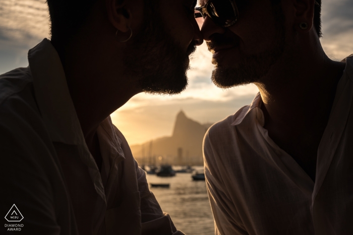
<svg viewBox="0 0 353 235"><path fill-rule="evenodd" d="M43 39L28 52L36 101L53 142L79 144L83 133L55 48Z"/></svg>

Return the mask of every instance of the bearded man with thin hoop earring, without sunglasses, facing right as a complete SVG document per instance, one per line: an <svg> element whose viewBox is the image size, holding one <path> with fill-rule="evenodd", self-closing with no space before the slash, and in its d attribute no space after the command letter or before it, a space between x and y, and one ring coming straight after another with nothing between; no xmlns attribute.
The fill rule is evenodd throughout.
<svg viewBox="0 0 353 235"><path fill-rule="evenodd" d="M22 234L184 234L109 115L138 93L186 88L203 42L196 2L47 4L51 40L0 76L2 214L15 204Z"/></svg>

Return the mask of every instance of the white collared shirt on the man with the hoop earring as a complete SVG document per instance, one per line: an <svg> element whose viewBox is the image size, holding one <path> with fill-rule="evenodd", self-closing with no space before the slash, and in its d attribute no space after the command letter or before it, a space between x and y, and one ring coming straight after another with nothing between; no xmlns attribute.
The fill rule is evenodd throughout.
<svg viewBox="0 0 353 235"><path fill-rule="evenodd" d="M184 234L110 117L97 129L98 170L51 43L44 39L28 60L0 76L0 213L15 204L21 234Z"/></svg>

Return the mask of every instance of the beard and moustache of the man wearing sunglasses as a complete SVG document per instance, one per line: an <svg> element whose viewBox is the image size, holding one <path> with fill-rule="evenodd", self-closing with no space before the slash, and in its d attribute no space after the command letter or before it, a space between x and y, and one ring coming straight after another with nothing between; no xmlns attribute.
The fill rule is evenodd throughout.
<svg viewBox="0 0 353 235"><path fill-rule="evenodd" d="M278 34L272 47L256 54L247 55L241 53L240 62L229 67L218 65L217 61L212 59L214 69L211 80L217 87L227 89L250 83L265 82L261 78L268 73L271 66L280 58L285 48L284 15L280 5L273 8ZM227 37L226 34L217 34L212 38L212 42L207 42L207 46L209 50L212 50L215 46L226 43L239 46L240 40L236 35Z"/></svg>

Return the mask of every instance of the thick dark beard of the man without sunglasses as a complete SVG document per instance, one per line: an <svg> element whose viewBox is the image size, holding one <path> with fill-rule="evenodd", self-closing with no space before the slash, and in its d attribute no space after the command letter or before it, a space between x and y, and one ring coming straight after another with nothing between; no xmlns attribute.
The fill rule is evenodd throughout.
<svg viewBox="0 0 353 235"><path fill-rule="evenodd" d="M188 86L189 55L196 50L192 42L187 51L170 35L159 14L158 1L145 1L141 32L126 49L126 73L138 77L146 93L179 94Z"/></svg>

